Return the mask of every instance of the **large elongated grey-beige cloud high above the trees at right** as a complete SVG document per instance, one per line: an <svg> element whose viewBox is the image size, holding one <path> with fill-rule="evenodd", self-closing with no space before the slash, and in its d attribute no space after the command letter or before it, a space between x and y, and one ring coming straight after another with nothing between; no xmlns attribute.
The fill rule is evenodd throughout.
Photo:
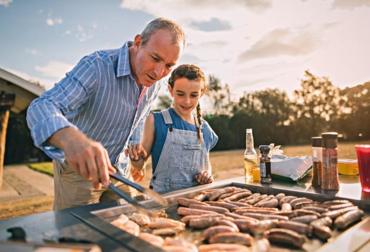
<svg viewBox="0 0 370 252"><path fill-rule="evenodd" d="M293 31L291 28L278 28L257 41L250 49L238 56L243 62L258 58L269 58L280 55L305 55L315 49L317 39L313 32L307 29Z"/></svg>

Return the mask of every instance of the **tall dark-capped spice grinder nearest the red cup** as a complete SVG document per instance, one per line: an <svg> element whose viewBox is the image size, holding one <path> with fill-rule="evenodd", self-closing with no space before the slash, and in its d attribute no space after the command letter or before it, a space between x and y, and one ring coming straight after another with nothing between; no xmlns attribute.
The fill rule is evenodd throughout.
<svg viewBox="0 0 370 252"><path fill-rule="evenodd" d="M338 177L338 133L322 133L323 138L323 177L321 188L339 190Z"/></svg>

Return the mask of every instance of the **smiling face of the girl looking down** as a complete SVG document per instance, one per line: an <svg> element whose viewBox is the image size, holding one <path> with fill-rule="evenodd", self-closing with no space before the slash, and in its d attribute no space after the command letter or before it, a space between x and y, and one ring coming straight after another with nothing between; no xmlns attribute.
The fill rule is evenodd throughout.
<svg viewBox="0 0 370 252"><path fill-rule="evenodd" d="M173 88L168 85L168 90L173 97L174 109L180 116L191 116L191 112L197 107L200 97L206 92L201 87L199 80L180 78L175 80Z"/></svg>

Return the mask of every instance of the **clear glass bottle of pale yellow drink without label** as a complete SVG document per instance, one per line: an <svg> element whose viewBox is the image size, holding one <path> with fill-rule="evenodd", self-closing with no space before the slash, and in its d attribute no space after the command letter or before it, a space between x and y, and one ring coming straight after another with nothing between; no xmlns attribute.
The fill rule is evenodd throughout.
<svg viewBox="0 0 370 252"><path fill-rule="evenodd" d="M253 180L253 170L257 169L257 152L254 149L252 129L247 129L246 149L244 152L244 176L247 181Z"/></svg>

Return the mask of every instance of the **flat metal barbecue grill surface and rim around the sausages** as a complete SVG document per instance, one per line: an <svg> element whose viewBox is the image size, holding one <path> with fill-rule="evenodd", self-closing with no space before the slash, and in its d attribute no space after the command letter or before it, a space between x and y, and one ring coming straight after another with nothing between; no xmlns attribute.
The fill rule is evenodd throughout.
<svg viewBox="0 0 370 252"><path fill-rule="evenodd" d="M292 191L289 189L282 189L282 188L272 188L268 186L261 186L261 185L250 185L243 183L244 178L235 178L229 179L224 181L219 181L216 183L202 185L198 187L188 188L179 191L169 192L163 195L163 197L169 202L169 206L166 209L161 209L154 203L153 201L146 200L144 197L139 196L137 200L143 200L141 204L146 208L156 211L156 210L165 210L168 214L168 217L174 220L180 220L182 216L177 215L177 207L178 204L176 199L179 197L185 198L193 198L199 192L207 189L217 189L217 188L224 188L228 186L235 186L239 188L245 188L250 190L252 193L261 193L261 194L273 194L277 195L279 193L284 193L285 195L296 196L296 197L306 197L310 198L313 201L324 202L330 200L340 200L346 199L342 197L337 197L335 195L327 195L321 194L317 192L302 192L302 191ZM302 188L301 188L302 189ZM364 234L365 236L358 236L356 237L356 243L351 244L351 250L355 251L358 250L361 246L365 243L369 242L370 240L370 201L369 200L353 200L349 199L353 202L356 206L360 207L366 214L365 219L348 228L345 231L338 231L337 229L333 230L333 238L331 238L328 242L323 242L317 238L309 239L308 242L304 245L304 250L294 250L294 251L334 251L334 248L347 248L349 246L349 241L354 239L356 234ZM124 204L124 202L122 202ZM136 212L136 209L131 205L121 205L116 207L110 208L99 208L100 204L97 204L95 209L91 208L89 211L86 211L85 208L76 208L70 211L70 214L78 218L80 221L84 222L91 228L95 229L96 231L102 233L109 239L112 239L116 243L121 244L124 248L128 251L132 252L142 252L142 251L153 251L153 252L162 252L163 250L154 247L141 239L134 237L128 234L125 231L122 231L109 222L116 219L120 214L131 214ZM91 206L92 207L92 206ZM201 241L201 232L202 230L194 230L189 227L186 228L186 231L180 233L178 237L182 237L187 241L191 241L197 246L203 244ZM260 239L262 236L255 236L255 240ZM272 245L272 247L276 247ZM281 248L281 247L279 247Z"/></svg>

